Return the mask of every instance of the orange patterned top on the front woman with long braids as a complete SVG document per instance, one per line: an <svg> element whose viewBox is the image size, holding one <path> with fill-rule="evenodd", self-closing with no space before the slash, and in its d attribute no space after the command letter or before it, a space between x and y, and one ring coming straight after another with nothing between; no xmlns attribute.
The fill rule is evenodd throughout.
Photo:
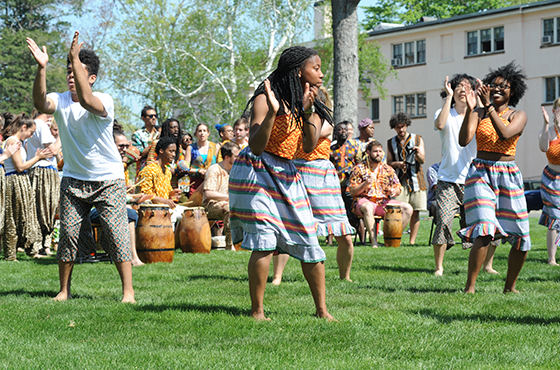
<svg viewBox="0 0 560 370"><path fill-rule="evenodd" d="M291 114L276 116L264 150L286 159L294 159L301 138L301 129Z"/></svg>

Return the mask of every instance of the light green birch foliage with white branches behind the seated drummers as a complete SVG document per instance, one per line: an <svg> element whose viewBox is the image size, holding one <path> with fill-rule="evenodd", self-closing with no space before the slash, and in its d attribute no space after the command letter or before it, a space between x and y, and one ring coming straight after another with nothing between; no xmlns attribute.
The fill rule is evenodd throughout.
<svg viewBox="0 0 560 370"><path fill-rule="evenodd" d="M232 122L280 52L303 41L311 0L121 0L109 42L114 88L160 117ZM104 58L105 59L105 58Z"/></svg>

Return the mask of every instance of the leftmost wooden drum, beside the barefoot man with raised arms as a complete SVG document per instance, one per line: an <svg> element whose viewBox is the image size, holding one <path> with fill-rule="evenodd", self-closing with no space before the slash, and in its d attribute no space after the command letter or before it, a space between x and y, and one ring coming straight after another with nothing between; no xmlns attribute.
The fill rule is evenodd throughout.
<svg viewBox="0 0 560 370"><path fill-rule="evenodd" d="M173 262L175 237L169 206L140 205L136 227L136 251L144 263Z"/></svg>

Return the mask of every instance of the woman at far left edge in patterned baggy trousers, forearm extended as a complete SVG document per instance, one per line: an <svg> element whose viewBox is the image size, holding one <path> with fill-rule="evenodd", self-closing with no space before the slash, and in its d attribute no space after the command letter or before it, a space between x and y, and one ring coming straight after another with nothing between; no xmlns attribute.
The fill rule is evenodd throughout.
<svg viewBox="0 0 560 370"><path fill-rule="evenodd" d="M9 125L5 125L2 136L8 137L4 146L28 139L35 132L35 122L25 113L14 117ZM4 161L6 171L5 185L5 220L2 244L4 258L17 261L17 248L25 247L26 253L39 257L37 242L41 240L40 227L37 222L35 199L27 170L39 160L52 157L49 149L38 150L34 157L27 160L27 153L21 147L14 155Z"/></svg>

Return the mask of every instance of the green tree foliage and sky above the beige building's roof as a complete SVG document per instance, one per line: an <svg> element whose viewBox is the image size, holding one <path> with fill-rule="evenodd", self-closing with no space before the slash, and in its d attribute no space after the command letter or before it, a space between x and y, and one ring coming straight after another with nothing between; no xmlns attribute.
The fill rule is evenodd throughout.
<svg viewBox="0 0 560 370"><path fill-rule="evenodd" d="M477 13L536 0L378 0L374 6L364 7L363 28L371 30L381 22L414 24L422 16L449 18Z"/></svg>

